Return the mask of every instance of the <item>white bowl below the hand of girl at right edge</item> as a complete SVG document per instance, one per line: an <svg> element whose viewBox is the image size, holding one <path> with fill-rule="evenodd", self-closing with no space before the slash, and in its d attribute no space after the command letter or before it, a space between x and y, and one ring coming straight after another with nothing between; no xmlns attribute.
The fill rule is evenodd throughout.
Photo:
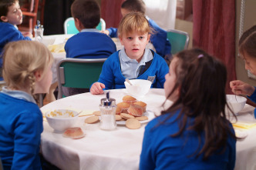
<svg viewBox="0 0 256 170"><path fill-rule="evenodd" d="M226 95L226 98L227 98L227 105L229 105L231 110L236 115L238 112L240 112L244 108L244 105L247 101L247 98L244 98L241 95ZM230 110L227 109L227 107L225 112L227 112L228 114L231 114Z"/></svg>

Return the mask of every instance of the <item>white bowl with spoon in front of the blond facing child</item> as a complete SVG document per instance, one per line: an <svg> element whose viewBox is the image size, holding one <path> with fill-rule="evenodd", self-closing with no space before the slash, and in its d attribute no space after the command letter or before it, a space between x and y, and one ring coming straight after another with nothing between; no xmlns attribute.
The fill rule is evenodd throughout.
<svg viewBox="0 0 256 170"><path fill-rule="evenodd" d="M149 80L143 80L143 79L133 79L130 80L132 85L130 85L128 82L124 82L124 85L126 86L126 89L130 95L133 97L143 97L147 94L147 92L150 91L150 87L152 82Z"/></svg>

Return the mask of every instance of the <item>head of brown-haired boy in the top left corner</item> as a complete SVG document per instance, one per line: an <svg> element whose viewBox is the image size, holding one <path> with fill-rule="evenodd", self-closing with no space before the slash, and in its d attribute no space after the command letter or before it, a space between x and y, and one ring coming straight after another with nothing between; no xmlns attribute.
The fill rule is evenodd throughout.
<svg viewBox="0 0 256 170"><path fill-rule="evenodd" d="M22 10L18 0L1 0L0 22L8 22L12 25L22 24Z"/></svg>

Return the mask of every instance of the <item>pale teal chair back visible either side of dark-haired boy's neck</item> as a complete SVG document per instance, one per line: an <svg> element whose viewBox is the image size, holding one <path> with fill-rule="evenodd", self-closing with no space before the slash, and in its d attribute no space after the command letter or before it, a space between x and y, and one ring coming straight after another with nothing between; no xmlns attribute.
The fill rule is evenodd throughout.
<svg viewBox="0 0 256 170"><path fill-rule="evenodd" d="M96 26L99 31L104 31L106 29L106 22L103 18L100 18L99 25ZM64 32L65 34L77 34L79 31L76 29L74 18L66 18L64 22Z"/></svg>

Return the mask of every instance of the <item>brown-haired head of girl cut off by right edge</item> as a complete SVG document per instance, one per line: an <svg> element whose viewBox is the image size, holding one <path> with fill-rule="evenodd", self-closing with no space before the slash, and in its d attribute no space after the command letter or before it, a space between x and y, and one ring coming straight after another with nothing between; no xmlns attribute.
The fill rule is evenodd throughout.
<svg viewBox="0 0 256 170"><path fill-rule="evenodd" d="M256 25L249 28L239 40L239 53L245 60L245 68L256 75Z"/></svg>

